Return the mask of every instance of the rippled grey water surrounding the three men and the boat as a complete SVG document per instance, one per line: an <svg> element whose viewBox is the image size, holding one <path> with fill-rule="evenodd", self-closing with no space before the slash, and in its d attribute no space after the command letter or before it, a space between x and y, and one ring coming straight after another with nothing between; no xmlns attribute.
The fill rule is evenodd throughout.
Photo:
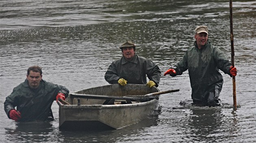
<svg viewBox="0 0 256 143"><path fill-rule="evenodd" d="M1 0L0 142L256 142L256 2L233 1L236 99L240 108L182 107L191 100L188 72L162 76L159 109L148 120L119 130L68 132L56 120L17 124L3 103L26 78L31 65L43 67L43 79L75 92L107 85L104 74L119 57L127 38L136 53L154 61L163 73L194 42L198 25L209 27L209 40L230 57L228 0ZM222 72L223 74L223 72ZM221 100L233 104L232 78L224 75ZM178 109L176 108L178 107Z"/></svg>

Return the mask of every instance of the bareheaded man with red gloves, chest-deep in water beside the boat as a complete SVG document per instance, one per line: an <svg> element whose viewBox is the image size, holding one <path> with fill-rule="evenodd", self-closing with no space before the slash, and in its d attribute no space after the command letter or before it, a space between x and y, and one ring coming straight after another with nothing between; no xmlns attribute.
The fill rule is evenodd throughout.
<svg viewBox="0 0 256 143"><path fill-rule="evenodd" d="M65 100L68 94L65 86L43 80L41 67L32 66L28 68L26 80L6 97L4 110L10 119L18 122L54 120L53 101L59 98Z"/></svg>

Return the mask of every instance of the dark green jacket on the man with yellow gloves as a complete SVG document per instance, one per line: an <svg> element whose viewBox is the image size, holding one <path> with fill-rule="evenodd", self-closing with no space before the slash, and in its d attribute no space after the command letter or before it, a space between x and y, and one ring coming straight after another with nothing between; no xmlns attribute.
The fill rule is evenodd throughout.
<svg viewBox="0 0 256 143"><path fill-rule="evenodd" d="M156 83L157 87L161 71L155 63L138 55L135 55L132 61L127 61L123 56L108 67L105 80L109 84L117 84L120 78L124 78L128 84L147 84L146 75Z"/></svg>

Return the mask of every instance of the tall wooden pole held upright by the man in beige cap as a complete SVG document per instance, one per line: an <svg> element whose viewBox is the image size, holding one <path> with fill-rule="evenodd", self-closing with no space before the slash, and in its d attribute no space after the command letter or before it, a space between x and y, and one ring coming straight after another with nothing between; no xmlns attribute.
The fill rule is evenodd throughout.
<svg viewBox="0 0 256 143"><path fill-rule="evenodd" d="M234 67L234 36L233 36L233 13L232 13L232 0L229 0L229 19L230 19L230 42L231 42L231 64ZM236 78L233 79L233 106L236 108Z"/></svg>

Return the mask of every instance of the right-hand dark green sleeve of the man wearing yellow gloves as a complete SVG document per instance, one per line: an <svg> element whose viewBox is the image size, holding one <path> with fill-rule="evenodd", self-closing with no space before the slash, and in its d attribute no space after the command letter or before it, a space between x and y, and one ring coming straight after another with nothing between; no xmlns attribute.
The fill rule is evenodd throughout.
<svg viewBox="0 0 256 143"><path fill-rule="evenodd" d="M148 60L146 64L146 74L148 79L154 81L156 83L156 87L158 87L161 78L161 71L159 67L150 60Z"/></svg>

